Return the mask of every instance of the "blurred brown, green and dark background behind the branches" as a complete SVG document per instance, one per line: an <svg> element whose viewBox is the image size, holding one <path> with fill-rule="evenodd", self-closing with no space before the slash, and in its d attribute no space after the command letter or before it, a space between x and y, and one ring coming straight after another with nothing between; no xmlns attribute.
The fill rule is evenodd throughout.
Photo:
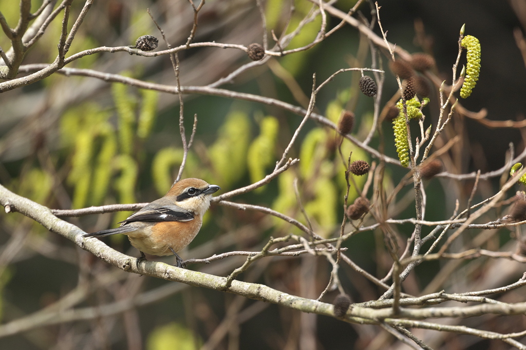
<svg viewBox="0 0 526 350"><path fill-rule="evenodd" d="M41 3L33 2L32 8ZM347 12L354 4L352 0L338 1L335 6ZM75 17L83 5L83 2L73 2ZM269 47L274 45L270 29L279 36L289 23L290 32L312 6L310 2L296 0L291 12L289 1L268 0L262 5L269 29ZM451 84L451 67L458 53L459 30L466 23L466 34L476 36L481 42L482 69L477 87L469 99L462 100L463 106L474 112L485 108L489 120L524 119L525 57L515 41L519 33L524 33L526 25L523 1L389 0L379 1L379 5L388 40L410 53L432 55L436 60L432 74L447 80L448 84ZM186 43L193 23L188 2L108 0L93 4L68 55L99 46L134 45L137 37L146 34L159 38L158 50L166 49L147 8L163 28L171 46ZM355 17L375 21L373 8L373 3L364 2ZM18 4L0 0L0 11L7 23L15 27ZM61 18L62 13L27 54L24 65L54 60ZM261 14L255 1L209 1L199 13L198 23L194 42L247 46L263 40ZM320 23L318 16L305 26L290 47L311 42ZM338 23L339 19L328 16L329 29ZM374 30L379 33L378 25ZM5 51L10 47L3 35L0 35L0 46ZM378 68L386 70L380 103L383 108L396 94L398 86L388 69L390 58L386 50L379 49L379 52ZM213 47L184 50L179 60L182 86L213 84L250 63L241 50ZM465 63L465 58L461 63ZM306 108L313 74L319 85L338 69L370 66L366 38L360 36L356 28L345 25L305 52L271 58L265 65L247 69L217 87ZM78 59L68 67L176 85L174 70L166 55L99 53ZM24 69L21 76L32 68ZM353 135L363 140L372 124L373 99L358 90L359 77L359 73L350 72L338 75L317 96L316 112L337 122L342 109L352 110L356 115ZM433 123L438 118L439 102L437 87L431 89L431 102L424 113ZM169 189L183 157L177 95L90 77L54 74L35 84L3 92L0 105L0 182L49 208L152 201ZM197 132L184 177L218 184L222 189L219 193L246 186L269 173L302 119L276 106L188 94L184 95L187 137L195 114ZM382 135L376 133L371 146L381 147L388 156L396 158L390 122L383 122L380 130ZM510 142L517 153L524 148L519 128L492 128L478 120L458 116L453 122L453 131L462 137L462 142L444 155L444 166L451 173L499 169L505 164ZM447 142L450 135L453 134L446 133L443 141ZM297 178L302 202L315 231L325 237L337 235L346 190L345 167L336 150L337 142L333 130L308 121L290 155L299 157L300 165L261 190L234 200L264 205L304 222L292 187ZM353 160L378 161L348 140L341 149L345 157L352 151ZM407 169L388 167L384 179L386 192L406 173ZM365 180L358 179L358 186L363 186ZM499 180L482 181L476 198L492 195ZM426 219L445 220L457 199L465 206L472 182L440 178L426 182L426 188ZM393 209L399 218L414 217L411 193L410 187L400 193L400 197L408 200L400 200ZM349 201L356 197L351 187ZM118 212L67 220L86 232L94 232L115 227L116 222L129 214ZM488 214L488 220L501 216L501 212L494 211ZM257 251L269 236L289 232L298 233L291 225L268 215L215 205L207 214L200 234L180 255L190 259L232 250ZM410 225L399 227L401 242L411 232ZM498 248L513 243L513 235L509 230L501 230L483 241ZM124 236L107 238L105 242L132 256L139 254ZM389 271L392 261L383 248L380 232L359 234L344 246L348 248L347 255L369 273L381 278ZM148 258L175 263L175 259ZM244 260L228 258L188 268L224 276ZM404 289L414 295L441 289L452 292L464 291L464 288L484 289L511 283L522 275L521 265L515 262L490 265L480 261L456 266L448 270L449 275L441 275L437 280L438 271L446 264L422 264L405 282ZM252 266L240 279L316 298L328 283L330 267L325 258L311 255L267 258ZM458 274L454 274L456 269ZM347 265L340 269L340 279L353 302L374 300L383 293ZM430 286L430 282L434 284ZM336 295L337 291L330 291L322 301L332 302ZM404 348L387 333L377 335L379 328L376 327L349 325L240 296L127 274L17 213L0 214L0 296L0 348L6 349ZM506 325L498 324L496 318L480 322L492 330L505 328L499 328L502 332L524 330L524 317L514 319L517 322ZM503 344L468 336L448 338L436 333L425 336L430 344L444 349L500 349Z"/></svg>

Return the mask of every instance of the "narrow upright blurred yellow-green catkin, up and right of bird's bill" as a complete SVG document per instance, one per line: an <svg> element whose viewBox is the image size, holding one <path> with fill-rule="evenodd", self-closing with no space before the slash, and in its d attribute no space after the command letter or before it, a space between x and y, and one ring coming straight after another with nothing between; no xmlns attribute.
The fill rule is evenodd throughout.
<svg viewBox="0 0 526 350"><path fill-rule="evenodd" d="M275 117L265 117L260 123L261 132L248 149L248 170L250 181L256 182L265 177L265 169L274 160L274 149L278 135L279 122ZM262 191L260 187L257 191Z"/></svg>

